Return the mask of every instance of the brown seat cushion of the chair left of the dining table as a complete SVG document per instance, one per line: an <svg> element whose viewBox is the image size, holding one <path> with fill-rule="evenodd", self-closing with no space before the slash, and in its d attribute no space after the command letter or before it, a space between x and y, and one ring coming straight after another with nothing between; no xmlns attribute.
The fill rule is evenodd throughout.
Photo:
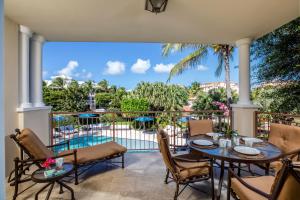
<svg viewBox="0 0 300 200"><path fill-rule="evenodd" d="M185 162L177 159L174 161L182 181L195 176L209 175L210 164L208 162Z"/></svg>

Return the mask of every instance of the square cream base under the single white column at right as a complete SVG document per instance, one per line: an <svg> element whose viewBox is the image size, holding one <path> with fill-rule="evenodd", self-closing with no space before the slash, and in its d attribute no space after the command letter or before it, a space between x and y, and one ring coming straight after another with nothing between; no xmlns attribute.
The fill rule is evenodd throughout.
<svg viewBox="0 0 300 200"><path fill-rule="evenodd" d="M254 112L258 110L259 106L232 104L231 107L233 129L237 130L240 135L254 137Z"/></svg>

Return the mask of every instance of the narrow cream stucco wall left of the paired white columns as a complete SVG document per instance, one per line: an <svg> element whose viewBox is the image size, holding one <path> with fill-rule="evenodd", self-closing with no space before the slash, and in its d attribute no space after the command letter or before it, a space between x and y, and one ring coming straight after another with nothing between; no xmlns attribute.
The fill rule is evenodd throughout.
<svg viewBox="0 0 300 200"><path fill-rule="evenodd" d="M18 127L18 24L5 18L4 34L4 129L6 174L12 168L13 158L18 155L15 144L9 138Z"/></svg>

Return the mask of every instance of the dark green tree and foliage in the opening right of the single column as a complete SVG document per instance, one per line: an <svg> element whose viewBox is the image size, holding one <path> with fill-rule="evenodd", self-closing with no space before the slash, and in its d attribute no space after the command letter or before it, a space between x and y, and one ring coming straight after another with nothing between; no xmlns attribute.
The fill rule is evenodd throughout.
<svg viewBox="0 0 300 200"><path fill-rule="evenodd" d="M260 87L253 100L269 112L300 113L300 18L256 40L251 47L252 77Z"/></svg>

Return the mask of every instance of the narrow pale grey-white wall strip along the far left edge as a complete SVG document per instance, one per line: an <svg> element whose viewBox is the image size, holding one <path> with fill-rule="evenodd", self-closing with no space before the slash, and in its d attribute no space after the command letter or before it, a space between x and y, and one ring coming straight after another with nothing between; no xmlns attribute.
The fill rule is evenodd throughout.
<svg viewBox="0 0 300 200"><path fill-rule="evenodd" d="M5 159L4 155L5 155L5 151L4 151L4 136L5 136L5 132L4 132L4 121L3 121L3 100L4 100L4 95L3 95L3 0L0 0L0 158L1 159L1 164L0 164L0 200L4 200L5 199L5 173L4 173L4 168L5 168Z"/></svg>

